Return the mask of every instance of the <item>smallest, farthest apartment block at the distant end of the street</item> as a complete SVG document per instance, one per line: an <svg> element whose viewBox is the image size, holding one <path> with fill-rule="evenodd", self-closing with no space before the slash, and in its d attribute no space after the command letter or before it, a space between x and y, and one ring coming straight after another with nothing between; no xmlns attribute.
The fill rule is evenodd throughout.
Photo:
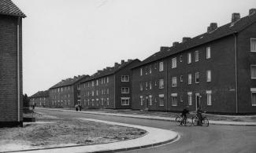
<svg viewBox="0 0 256 153"><path fill-rule="evenodd" d="M39 91L33 94L30 98L30 105L37 107L49 106L49 90Z"/></svg>

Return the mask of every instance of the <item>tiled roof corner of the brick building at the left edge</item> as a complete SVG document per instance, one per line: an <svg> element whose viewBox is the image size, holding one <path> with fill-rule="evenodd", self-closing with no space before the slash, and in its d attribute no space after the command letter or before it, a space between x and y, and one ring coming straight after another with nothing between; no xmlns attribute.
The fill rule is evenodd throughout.
<svg viewBox="0 0 256 153"><path fill-rule="evenodd" d="M0 14L26 17L11 0L0 0Z"/></svg>

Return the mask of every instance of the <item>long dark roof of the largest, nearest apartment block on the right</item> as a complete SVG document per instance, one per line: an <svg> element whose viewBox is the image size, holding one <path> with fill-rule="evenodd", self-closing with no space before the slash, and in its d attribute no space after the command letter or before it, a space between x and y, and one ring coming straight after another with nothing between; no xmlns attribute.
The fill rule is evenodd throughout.
<svg viewBox="0 0 256 153"><path fill-rule="evenodd" d="M207 42L212 42L213 40L217 40L219 38L223 38L225 36L232 35L236 32L243 31L243 29L247 28L251 24L254 24L255 22L256 22L256 13L254 12L254 13L250 14L249 16L245 16L245 17L237 20L235 23L225 24L221 27L217 27L217 29L212 32L206 32L202 35L198 35L194 38L191 38L191 39L187 40L186 42L181 42L181 43L177 44L176 46L169 47L169 49L164 49L162 51L154 53L152 56L147 57L145 60L143 60L140 64L138 64L135 67L139 67L144 64L149 64L156 60L161 60L167 56L171 56L173 54L183 52L187 49L191 49L196 46L200 46ZM133 67L133 68L135 68L135 67Z"/></svg>

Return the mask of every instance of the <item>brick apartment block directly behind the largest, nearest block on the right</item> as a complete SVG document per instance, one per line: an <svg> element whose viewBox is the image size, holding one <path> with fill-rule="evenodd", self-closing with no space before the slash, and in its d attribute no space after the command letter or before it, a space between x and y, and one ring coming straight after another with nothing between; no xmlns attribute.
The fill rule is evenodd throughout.
<svg viewBox="0 0 256 153"><path fill-rule="evenodd" d="M139 60L121 60L81 82L81 104L87 108L131 108L131 68Z"/></svg>

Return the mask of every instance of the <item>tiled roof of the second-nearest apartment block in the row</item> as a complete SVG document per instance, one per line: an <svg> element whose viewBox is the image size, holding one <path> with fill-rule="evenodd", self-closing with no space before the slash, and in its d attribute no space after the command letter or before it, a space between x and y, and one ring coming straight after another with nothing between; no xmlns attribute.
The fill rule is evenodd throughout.
<svg viewBox="0 0 256 153"><path fill-rule="evenodd" d="M117 71L120 71L122 68L128 66L129 64L132 64L133 62L135 61L140 61L138 59L135 59L135 60L128 60L126 62L124 62L124 64L117 64L116 67L107 67L107 68L104 68L102 71L97 71L94 75L91 75L90 78L87 78L85 79L83 82L87 82L87 81L90 81L90 80L93 80L95 78L101 78L103 76L107 76L107 75L113 75L115 74Z"/></svg>

